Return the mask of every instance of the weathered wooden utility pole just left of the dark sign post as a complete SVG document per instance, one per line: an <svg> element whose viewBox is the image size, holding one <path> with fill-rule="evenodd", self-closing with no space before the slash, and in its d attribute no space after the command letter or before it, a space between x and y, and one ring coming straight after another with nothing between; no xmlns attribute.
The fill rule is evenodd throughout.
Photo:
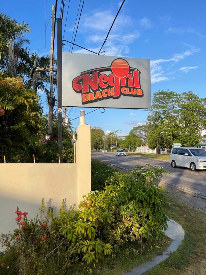
<svg viewBox="0 0 206 275"><path fill-rule="evenodd" d="M53 44L54 44L54 6L52 6L52 34L51 34L51 52L50 52L50 96L49 96L49 118L48 118L48 134L52 133L52 119L53 119Z"/></svg>

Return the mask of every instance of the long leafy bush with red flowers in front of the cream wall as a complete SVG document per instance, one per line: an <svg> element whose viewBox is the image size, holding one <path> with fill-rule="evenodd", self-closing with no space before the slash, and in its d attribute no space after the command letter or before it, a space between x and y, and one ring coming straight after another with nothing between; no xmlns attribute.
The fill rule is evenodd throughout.
<svg viewBox="0 0 206 275"><path fill-rule="evenodd" d="M136 166L129 174L115 172L105 189L84 196L78 209L67 209L63 201L57 217L52 207L45 211L43 198L40 219L28 221L28 213L17 209L18 228L0 236L8 250L4 274L15 274L15 269L23 275L69 274L80 262L115 258L128 244L138 244L142 251L144 243L164 236L167 228L164 190L155 184L163 174L164 168L150 165ZM7 272L9 265L15 266L13 273Z"/></svg>

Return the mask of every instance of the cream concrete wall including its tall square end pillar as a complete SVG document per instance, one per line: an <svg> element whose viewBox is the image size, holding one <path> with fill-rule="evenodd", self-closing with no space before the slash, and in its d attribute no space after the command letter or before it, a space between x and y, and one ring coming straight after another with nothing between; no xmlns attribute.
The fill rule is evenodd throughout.
<svg viewBox="0 0 206 275"><path fill-rule="evenodd" d="M78 127L75 163L1 163L0 233L16 228L14 212L27 211L28 218L39 213L41 200L58 213L63 199L78 207L91 190L90 126Z"/></svg>

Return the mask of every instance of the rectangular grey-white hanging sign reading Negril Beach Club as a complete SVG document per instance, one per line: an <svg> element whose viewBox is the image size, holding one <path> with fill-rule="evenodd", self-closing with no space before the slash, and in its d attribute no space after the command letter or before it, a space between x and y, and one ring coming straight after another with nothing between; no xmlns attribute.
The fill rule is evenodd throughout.
<svg viewBox="0 0 206 275"><path fill-rule="evenodd" d="M62 105L151 108L150 60L63 52Z"/></svg>

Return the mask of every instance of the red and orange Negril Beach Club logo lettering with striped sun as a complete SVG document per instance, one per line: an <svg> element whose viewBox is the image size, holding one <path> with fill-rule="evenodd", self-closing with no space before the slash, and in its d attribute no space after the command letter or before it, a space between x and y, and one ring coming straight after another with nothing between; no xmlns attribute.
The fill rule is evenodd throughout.
<svg viewBox="0 0 206 275"><path fill-rule="evenodd" d="M104 72L110 71L109 75ZM140 71L131 68L122 58L114 59L110 66L81 72L72 81L75 92L81 93L82 104L122 96L143 97Z"/></svg>

